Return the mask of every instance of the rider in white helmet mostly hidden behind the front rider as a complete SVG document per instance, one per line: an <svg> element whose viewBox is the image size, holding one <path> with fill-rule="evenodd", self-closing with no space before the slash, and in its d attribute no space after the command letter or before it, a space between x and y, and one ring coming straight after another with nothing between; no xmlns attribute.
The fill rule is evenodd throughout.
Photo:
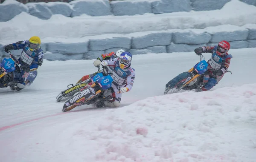
<svg viewBox="0 0 256 162"><path fill-rule="evenodd" d="M115 58L117 58L117 57L120 57L120 54L122 54L123 52L124 52L124 50L119 49L119 50L116 51L116 52L110 52L110 53L108 53L108 54L101 54L101 55L93 62L93 65L97 67L97 66L99 66L99 65L101 64L101 62L102 62L103 60L113 60L113 59L115 59ZM81 83L81 82L83 82L83 81L85 81L85 80L87 80L87 79L93 77L95 74L97 74L97 72L96 72L96 73L93 73L93 74L85 75L85 76L82 77L76 84Z"/></svg>

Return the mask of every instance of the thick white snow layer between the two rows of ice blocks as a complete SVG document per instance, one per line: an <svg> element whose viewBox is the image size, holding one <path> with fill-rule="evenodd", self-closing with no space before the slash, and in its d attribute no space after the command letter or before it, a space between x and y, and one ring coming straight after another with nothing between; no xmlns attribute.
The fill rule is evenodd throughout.
<svg viewBox="0 0 256 162"><path fill-rule="evenodd" d="M235 14L234 14L235 13ZM40 37L84 37L103 33L132 33L175 28L206 28L231 24L256 24L256 7L232 0L221 10L145 14L134 16L78 16L53 15L49 20L21 13L8 22L0 22L0 41L24 39L32 34ZM24 20L33 20L27 23ZM61 21L60 21L61 20ZM6 31L11 31L6 34Z"/></svg>

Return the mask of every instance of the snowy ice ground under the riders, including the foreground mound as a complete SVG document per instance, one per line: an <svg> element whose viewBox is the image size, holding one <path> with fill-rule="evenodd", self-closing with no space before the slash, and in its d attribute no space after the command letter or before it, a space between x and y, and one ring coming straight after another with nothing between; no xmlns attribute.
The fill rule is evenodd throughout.
<svg viewBox="0 0 256 162"><path fill-rule="evenodd" d="M93 60L45 61L30 87L0 89L0 162L255 162L255 51L230 50L233 74L212 91L165 96L166 83L200 58L136 55L120 108L68 113L55 97L97 68Z"/></svg>

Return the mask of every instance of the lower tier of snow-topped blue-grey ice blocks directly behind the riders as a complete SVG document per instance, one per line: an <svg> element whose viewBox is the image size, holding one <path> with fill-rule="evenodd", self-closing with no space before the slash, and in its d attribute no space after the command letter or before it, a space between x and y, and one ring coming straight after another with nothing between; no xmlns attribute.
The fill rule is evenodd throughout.
<svg viewBox="0 0 256 162"><path fill-rule="evenodd" d="M256 47L254 27L253 24L242 27L222 25L205 29L190 28L130 34L102 34L69 39L47 37L42 39L41 47L45 52L56 54L50 60L96 59L100 54L117 51L118 48L123 48L132 54L189 52L201 46L216 45L221 40L229 41L231 48L251 48ZM17 41L13 40L13 42ZM6 42L7 40L1 44L7 45ZM13 42L9 41L8 44ZM20 54L20 51L15 51L15 54ZM72 55L68 55L70 56L68 57L64 56L65 54ZM74 54L79 55L74 56ZM0 55L6 55L3 47L0 48Z"/></svg>

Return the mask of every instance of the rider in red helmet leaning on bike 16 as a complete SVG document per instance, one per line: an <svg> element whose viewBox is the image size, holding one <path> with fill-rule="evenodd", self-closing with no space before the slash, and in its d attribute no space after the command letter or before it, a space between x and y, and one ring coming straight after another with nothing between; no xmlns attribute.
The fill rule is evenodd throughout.
<svg viewBox="0 0 256 162"><path fill-rule="evenodd" d="M202 53L211 53L212 57L208 60L208 70L204 73L203 87L197 91L208 91L214 87L227 72L230 65L232 55L227 52L230 49L230 43L222 40L215 46L204 46L195 48L195 53L200 55Z"/></svg>

